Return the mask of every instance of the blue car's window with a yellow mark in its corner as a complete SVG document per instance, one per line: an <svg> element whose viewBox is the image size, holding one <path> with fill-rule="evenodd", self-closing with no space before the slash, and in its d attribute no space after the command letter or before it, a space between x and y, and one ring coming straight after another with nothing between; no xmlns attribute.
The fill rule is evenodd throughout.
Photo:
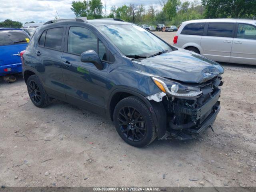
<svg viewBox="0 0 256 192"><path fill-rule="evenodd" d="M22 30L0 30L0 46L23 44L28 41L28 36Z"/></svg>

